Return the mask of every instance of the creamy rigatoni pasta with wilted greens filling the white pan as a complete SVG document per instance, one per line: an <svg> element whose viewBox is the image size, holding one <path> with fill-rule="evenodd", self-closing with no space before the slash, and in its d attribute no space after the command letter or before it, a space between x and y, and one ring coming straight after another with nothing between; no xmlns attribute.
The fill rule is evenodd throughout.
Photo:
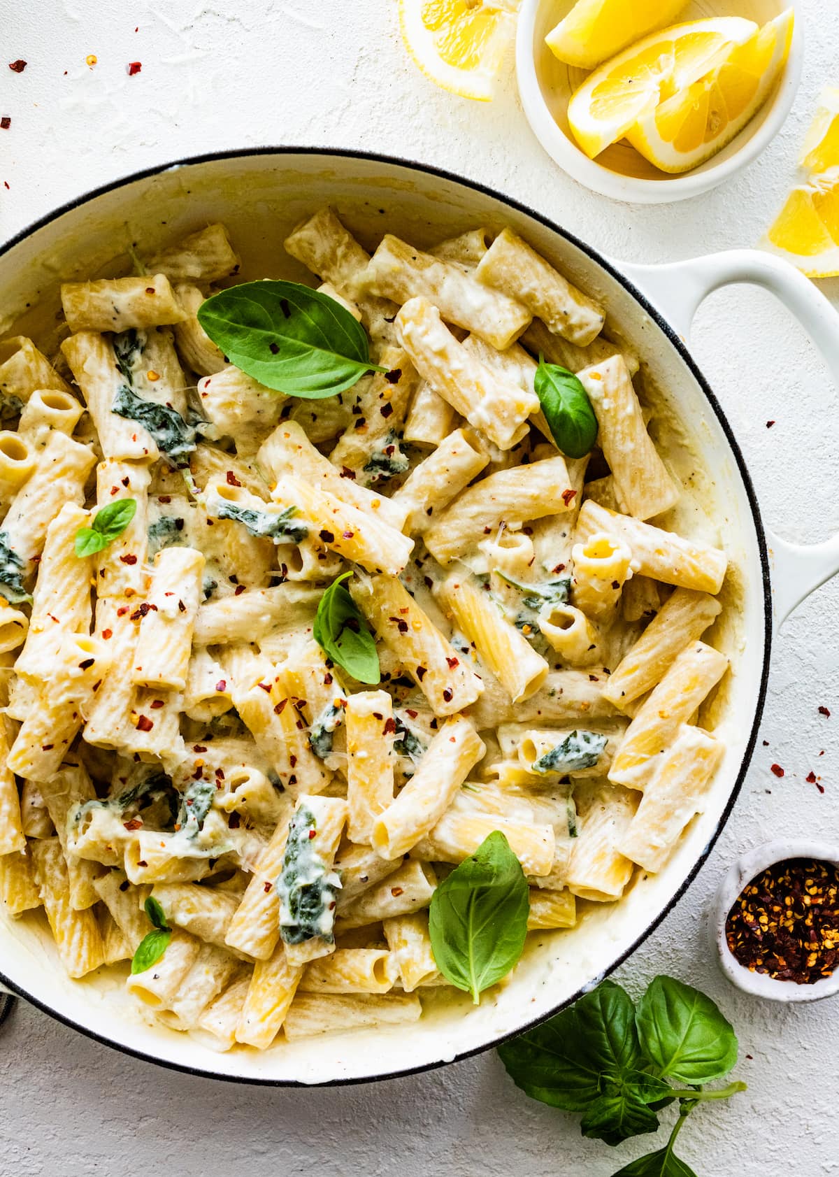
<svg viewBox="0 0 839 1177"><path fill-rule="evenodd" d="M369 337L321 399L209 338L222 225L64 284L72 384L0 341L0 904L218 1050L420 1017L437 887L497 831L573 936L724 753L727 556L600 301L511 230L371 253L327 208L286 251Z"/></svg>

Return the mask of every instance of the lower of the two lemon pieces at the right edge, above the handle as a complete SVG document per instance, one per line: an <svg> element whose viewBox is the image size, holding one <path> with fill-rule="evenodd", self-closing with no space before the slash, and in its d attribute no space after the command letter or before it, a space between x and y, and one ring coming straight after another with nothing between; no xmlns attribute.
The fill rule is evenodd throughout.
<svg viewBox="0 0 839 1177"><path fill-rule="evenodd" d="M761 242L807 278L839 275L839 167L793 188Z"/></svg>

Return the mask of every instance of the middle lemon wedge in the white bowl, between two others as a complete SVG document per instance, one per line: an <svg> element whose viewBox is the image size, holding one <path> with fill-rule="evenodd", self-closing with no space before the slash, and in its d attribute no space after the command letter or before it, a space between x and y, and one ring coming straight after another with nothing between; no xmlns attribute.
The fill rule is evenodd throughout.
<svg viewBox="0 0 839 1177"><path fill-rule="evenodd" d="M752 20L715 16L652 33L595 69L572 95L574 138L593 159L659 102L717 69L757 32Z"/></svg>

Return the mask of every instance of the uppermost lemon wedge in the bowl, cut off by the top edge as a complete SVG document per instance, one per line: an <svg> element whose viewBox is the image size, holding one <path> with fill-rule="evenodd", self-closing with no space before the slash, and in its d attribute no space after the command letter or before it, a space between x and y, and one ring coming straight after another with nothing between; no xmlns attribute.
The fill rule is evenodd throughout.
<svg viewBox="0 0 839 1177"><path fill-rule="evenodd" d="M654 28L664 28L687 0L578 0L545 42L560 61L593 69Z"/></svg>

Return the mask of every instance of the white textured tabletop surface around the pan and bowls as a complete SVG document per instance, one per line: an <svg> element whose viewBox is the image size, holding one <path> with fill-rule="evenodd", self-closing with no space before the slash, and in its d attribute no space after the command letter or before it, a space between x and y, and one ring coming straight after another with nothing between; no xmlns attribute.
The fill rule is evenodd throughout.
<svg viewBox="0 0 839 1177"><path fill-rule="evenodd" d="M731 9L735 11L737 0ZM85 189L179 155L260 144L367 148L438 164L506 191L615 258L671 260L752 245L790 182L813 99L839 82L839 12L797 5L805 78L784 134L738 180L674 207L594 197L541 153L512 81L491 106L434 89L405 61L393 0L0 0L0 238ZM139 31L135 32L135 27ZM98 64L89 69L87 54ZM24 74L5 61L24 58ZM129 61L142 72L126 73ZM66 74L65 74L66 71ZM8 187L4 185L4 181ZM839 294L839 282L824 284ZM839 530L839 395L803 332L757 291L700 311L694 351L751 465L765 518L800 540ZM766 421L773 419L773 428ZM740 1036L746 1095L699 1111L680 1145L701 1177L839 1173L835 1004L781 1009L737 993L701 922L721 871L780 833L839 827L839 586L775 647L761 738L735 812L698 880L621 970L672 972L713 993ZM832 719L818 713L823 704ZM824 749L824 756L819 756ZM780 763L784 779L770 771ZM821 796L805 777L823 777ZM745 1056L752 1056L746 1058ZM0 1175L206 1172L607 1177L653 1138L615 1151L517 1092L493 1055L419 1078L271 1091L166 1072L19 1005L0 1030Z"/></svg>

